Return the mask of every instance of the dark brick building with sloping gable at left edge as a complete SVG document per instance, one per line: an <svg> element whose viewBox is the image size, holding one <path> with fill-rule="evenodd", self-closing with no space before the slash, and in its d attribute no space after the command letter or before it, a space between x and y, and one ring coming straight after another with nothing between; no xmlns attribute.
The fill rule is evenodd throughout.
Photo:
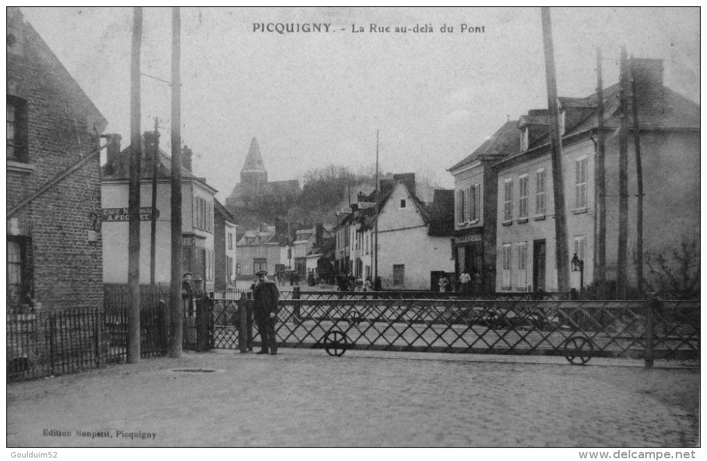
<svg viewBox="0 0 707 461"><path fill-rule="evenodd" d="M107 122L7 9L8 307L103 306L99 136Z"/></svg>

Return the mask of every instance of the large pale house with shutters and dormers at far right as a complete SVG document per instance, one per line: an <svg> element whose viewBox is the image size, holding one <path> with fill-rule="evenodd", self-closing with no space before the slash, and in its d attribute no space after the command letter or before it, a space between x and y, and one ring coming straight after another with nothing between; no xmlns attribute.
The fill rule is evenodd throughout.
<svg viewBox="0 0 707 461"><path fill-rule="evenodd" d="M671 252L699 232L700 107L663 85L660 59L634 59L638 130L643 163L644 251ZM605 185L607 204L606 271L616 278L619 222L619 84L604 89ZM597 216L595 159L597 94L559 98L563 190L568 250L583 261L571 272L571 286L595 280ZM636 283L636 149L633 114L629 121L629 284ZM496 289L554 291L554 197L547 111L534 110L518 124L520 144L494 168L498 174ZM645 259L644 259L645 262ZM568 261L569 263L569 261ZM648 267L644 268L648 275Z"/></svg>

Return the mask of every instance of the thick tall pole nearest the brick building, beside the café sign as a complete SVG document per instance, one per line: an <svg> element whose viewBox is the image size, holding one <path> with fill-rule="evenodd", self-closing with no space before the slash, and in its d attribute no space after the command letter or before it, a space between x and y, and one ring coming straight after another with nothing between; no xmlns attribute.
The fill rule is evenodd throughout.
<svg viewBox="0 0 707 461"><path fill-rule="evenodd" d="M130 178L128 184L128 344L127 362L140 362L140 48L142 8L133 8L130 63Z"/></svg>

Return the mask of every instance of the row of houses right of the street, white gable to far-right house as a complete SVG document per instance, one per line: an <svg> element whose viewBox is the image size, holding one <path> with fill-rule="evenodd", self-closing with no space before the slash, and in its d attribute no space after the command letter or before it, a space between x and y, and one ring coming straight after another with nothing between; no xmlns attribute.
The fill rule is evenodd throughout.
<svg viewBox="0 0 707 461"><path fill-rule="evenodd" d="M665 87L660 59L632 59L631 67L638 127L629 123L628 246L636 247L633 131L638 129L645 178L644 251L665 255L699 233L700 110L696 103ZM618 132L622 117L618 95L618 83L603 91L607 237L602 269L607 279L617 275ZM558 106L567 245L570 257L583 267L571 274L570 282L571 288L580 288L595 281L599 251L597 93L584 98L561 97ZM358 194L358 203L336 228L334 267L361 277L376 274L377 268L384 288L434 290L443 274L456 287L466 270L473 291L556 291L548 112L529 110L502 124L481 146L448 169L455 189L436 190L431 201L418 197L411 174L380 181L378 202L375 191ZM631 110L623 116L633 120ZM634 257L635 251L629 261ZM627 276L629 284L635 285L636 271L631 263Z"/></svg>

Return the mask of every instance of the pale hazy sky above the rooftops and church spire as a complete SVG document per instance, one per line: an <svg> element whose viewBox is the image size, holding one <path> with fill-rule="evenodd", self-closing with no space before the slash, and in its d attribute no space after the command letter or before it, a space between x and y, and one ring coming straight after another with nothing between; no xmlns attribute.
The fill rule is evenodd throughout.
<svg viewBox="0 0 707 461"><path fill-rule="evenodd" d="M22 11L127 146L132 8ZM663 59L666 86L699 103L699 8L551 8L551 17L559 95L595 91L597 47L604 85L616 83L625 45ZM547 107L539 8L183 7L181 18L182 141L222 201L253 137L269 180L329 164L371 168L378 130L380 170L453 187L448 168L508 117ZM270 23L330 26L254 31ZM171 27L170 8L144 8L141 71L167 81ZM154 117L169 128L170 87L144 77L141 91L143 130ZM169 152L170 132L160 133Z"/></svg>

